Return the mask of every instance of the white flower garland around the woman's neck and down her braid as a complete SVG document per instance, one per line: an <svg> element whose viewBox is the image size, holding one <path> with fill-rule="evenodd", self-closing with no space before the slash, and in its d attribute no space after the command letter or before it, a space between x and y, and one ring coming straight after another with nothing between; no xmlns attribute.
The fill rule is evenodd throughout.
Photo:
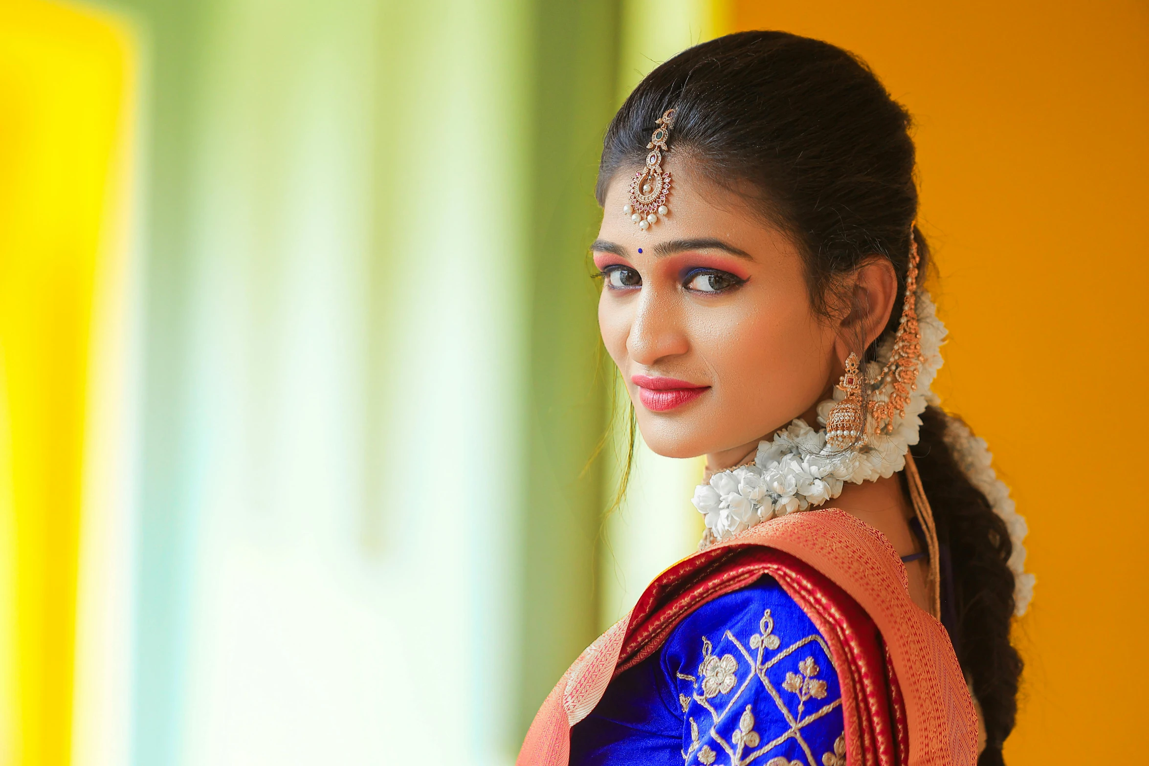
<svg viewBox="0 0 1149 766"><path fill-rule="evenodd" d="M719 471L710 477L709 483L699 485L694 490L694 506L705 517L707 525L700 548L726 540L776 516L817 508L838 497L847 481L873 481L905 467L905 450L918 443L919 416L935 399L930 387L942 364L940 349L946 338L946 326L924 291L918 293L918 325L925 361L918 372L917 389L911 393L905 408L905 417L895 416L893 432L878 433L871 421L866 426L864 446L838 450L826 443L824 428L815 431L800 418L793 420L774 434L772 441L758 443L753 464ZM871 379L881 371L892 350L893 338L889 338L879 349L878 359L869 365ZM886 388L884 386L873 396L879 401L887 399L889 392ZM825 426L834 403L843 397L845 394L835 388L834 399L818 404L818 423L822 426ZM951 418L947 443L954 448L955 457L970 481L985 493L994 511L1009 527L1013 542L1009 565L1017 589L1017 613L1021 614L1028 606L1034 581L1034 577L1024 571L1025 548L1021 541L1026 535L1025 519L1015 512L1009 488L994 474L985 441Z"/></svg>

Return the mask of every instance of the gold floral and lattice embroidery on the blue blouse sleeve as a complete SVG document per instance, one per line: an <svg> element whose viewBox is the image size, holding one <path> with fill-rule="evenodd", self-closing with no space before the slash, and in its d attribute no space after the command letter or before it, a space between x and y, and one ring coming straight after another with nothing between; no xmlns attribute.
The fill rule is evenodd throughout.
<svg viewBox="0 0 1149 766"><path fill-rule="evenodd" d="M758 633L751 635L749 641L747 641L749 649L730 630L723 634L724 639L734 644L750 668L750 673L745 676L741 683L738 678L739 659L732 653L720 657L716 655L714 645L705 636L702 637L702 663L699 665L699 678L678 673L679 679L689 681L694 687L693 696L679 696L679 704L683 705L684 713L688 710L691 703L694 702L710 717L709 730L705 732L704 737L700 736L699 722L695 718L691 717L688 719L691 726L691 745L683 752L683 759L687 766L693 766L695 763L702 766L715 764L718 752L710 746L710 743L720 748L728 756L730 766L746 766L751 761L757 761L762 766L819 766L819 761L802 736L802 729L838 709L842 701L840 698L826 699L830 687L824 679L818 678L822 668L818 667L812 653L807 653L799 661L797 673L786 673L785 680L780 684L781 690L774 687L766 672L794 653L802 651L803 648L809 652L812 644L819 645L828 659L831 656L830 648L817 633L804 636L786 648L781 648L782 641L774 633L774 620L768 609L758 622ZM800 653L799 657L802 657L802 655ZM755 682L762 683L768 696L773 701L777 712L781 713L787 728L770 742L763 742L762 734L756 730L757 719L754 705L743 704L739 705L741 712L739 713L738 728L730 735L730 741L727 742L718 733L718 727L732 714L742 694ZM787 697L782 693L789 693L793 696ZM725 704L720 702L723 696L730 696L725 701ZM792 707L795 702L796 705ZM722 706L720 709L719 705ZM792 761L781 756L770 758L765 761L757 760L762 757L769 757L771 750L791 738L794 738L802 749L807 758L805 764L799 760ZM834 753L825 753L820 759L820 766L845 766L845 737L839 737L838 742L834 743ZM694 760L695 757L696 761ZM839 757L841 758L840 763L827 760ZM719 764L719 766L724 766L724 764Z"/></svg>

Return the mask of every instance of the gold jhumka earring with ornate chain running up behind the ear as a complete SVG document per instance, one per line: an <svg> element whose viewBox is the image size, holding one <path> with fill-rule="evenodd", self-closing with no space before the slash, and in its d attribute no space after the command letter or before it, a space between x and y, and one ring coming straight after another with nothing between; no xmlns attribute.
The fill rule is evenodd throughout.
<svg viewBox="0 0 1149 766"><path fill-rule="evenodd" d="M905 272L905 296L902 299L902 316L894 334L894 346L889 361L878 376L870 380L859 369L857 354L846 357L846 372L838 387L846 399L834 404L826 418L826 443L834 449L861 447L866 443L866 426L870 417L874 420L876 433L894 430L895 413L905 417L905 405L910 393L917 390L918 370L921 355L921 328L918 326L918 241L910 225L910 263ZM877 389L866 397L863 386Z"/></svg>

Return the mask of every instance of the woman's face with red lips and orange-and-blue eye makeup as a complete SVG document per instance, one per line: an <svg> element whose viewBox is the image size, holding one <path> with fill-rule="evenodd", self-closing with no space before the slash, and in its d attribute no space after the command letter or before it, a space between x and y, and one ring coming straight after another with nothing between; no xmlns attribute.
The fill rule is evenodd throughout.
<svg viewBox="0 0 1149 766"><path fill-rule="evenodd" d="M666 162L670 214L642 231L611 183L594 263L599 326L642 438L669 457L746 451L827 395L840 367L797 248L739 195Z"/></svg>

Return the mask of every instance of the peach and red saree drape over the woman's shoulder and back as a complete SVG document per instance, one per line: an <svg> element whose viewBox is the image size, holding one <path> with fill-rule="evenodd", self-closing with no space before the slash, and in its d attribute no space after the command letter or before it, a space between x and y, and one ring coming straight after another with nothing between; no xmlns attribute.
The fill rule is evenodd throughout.
<svg viewBox="0 0 1149 766"><path fill-rule="evenodd" d="M809 617L836 671L845 730L833 751L822 756L825 766L977 763L973 702L946 629L910 599L905 568L880 533L843 511L822 510L759 524L658 575L631 613L591 644L555 686L527 732L518 766L565 766L571 758L571 728L595 710L612 680L650 659L692 613L764 578L776 581ZM770 619L766 610L762 634L749 641L759 649L759 660L751 666L766 687L770 682L762 652L768 643L778 653L786 651L778 649L773 635L768 637ZM710 642L703 642L709 658ZM717 657L716 652L711 660L716 666ZM818 667L812 659L805 661L810 665L802 666L802 674L809 668L812 676ZM792 673L786 683L791 679L801 680ZM826 689L824 682L813 682ZM773 687L770 693L777 698ZM710 689L699 701L705 702L703 697L714 694L717 690ZM688 695L681 699L685 711ZM835 701L831 706L836 705ZM755 719L747 706L741 728L722 740L724 746L737 743L737 748L728 745L730 761L762 766L803 763L771 758L772 752L766 752L772 743L787 737L801 741L803 722L787 720L788 732L758 746L759 735L751 730ZM717 721L716 717L714 726ZM716 760L709 746L697 749L693 718L689 727L695 742L692 746L686 741L681 750L685 763L725 764ZM720 740L714 729L710 734ZM757 753L762 753L761 760ZM807 759L811 757L817 759L807 748Z"/></svg>

